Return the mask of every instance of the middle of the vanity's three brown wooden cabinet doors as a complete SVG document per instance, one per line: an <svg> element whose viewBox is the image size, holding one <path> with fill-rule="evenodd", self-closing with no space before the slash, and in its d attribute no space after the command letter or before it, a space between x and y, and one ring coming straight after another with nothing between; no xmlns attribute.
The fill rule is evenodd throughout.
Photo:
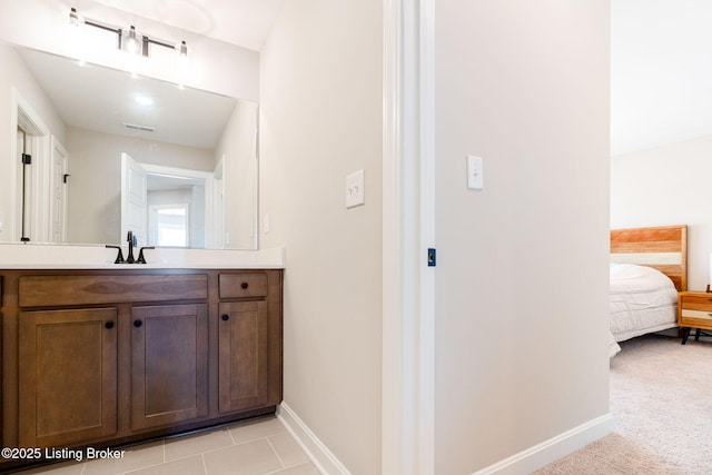
<svg viewBox="0 0 712 475"><path fill-rule="evenodd" d="M131 316L131 427L206 416L207 306L135 307Z"/></svg>

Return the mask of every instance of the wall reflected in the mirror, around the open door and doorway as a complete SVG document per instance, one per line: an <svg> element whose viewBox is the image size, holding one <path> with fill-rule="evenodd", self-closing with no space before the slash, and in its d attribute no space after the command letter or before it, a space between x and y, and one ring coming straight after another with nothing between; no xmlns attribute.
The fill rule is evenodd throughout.
<svg viewBox="0 0 712 475"><path fill-rule="evenodd" d="M142 164L211 172L212 150L69 127L67 240L123 244L121 152ZM141 244L141 245L145 245Z"/></svg>

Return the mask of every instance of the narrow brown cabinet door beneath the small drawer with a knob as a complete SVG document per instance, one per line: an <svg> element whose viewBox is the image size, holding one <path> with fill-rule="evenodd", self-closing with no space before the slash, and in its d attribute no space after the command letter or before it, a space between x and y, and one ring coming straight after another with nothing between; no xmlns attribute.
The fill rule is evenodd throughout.
<svg viewBox="0 0 712 475"><path fill-rule="evenodd" d="M222 303L219 313L219 410L263 405L268 398L267 303Z"/></svg>

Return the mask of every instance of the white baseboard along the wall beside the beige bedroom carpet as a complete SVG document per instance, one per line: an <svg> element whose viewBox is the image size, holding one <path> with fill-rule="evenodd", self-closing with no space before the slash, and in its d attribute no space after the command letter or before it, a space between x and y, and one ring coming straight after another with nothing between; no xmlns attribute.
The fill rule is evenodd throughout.
<svg viewBox="0 0 712 475"><path fill-rule="evenodd" d="M613 428L613 416L609 413L482 468L473 475L528 474L609 435Z"/></svg>

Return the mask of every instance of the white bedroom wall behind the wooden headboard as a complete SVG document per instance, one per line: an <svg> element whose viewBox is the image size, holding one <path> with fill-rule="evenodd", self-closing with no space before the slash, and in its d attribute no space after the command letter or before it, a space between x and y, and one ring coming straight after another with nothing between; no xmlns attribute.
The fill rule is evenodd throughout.
<svg viewBox="0 0 712 475"><path fill-rule="evenodd" d="M688 225L688 288L704 290L712 253L712 136L611 159L611 227Z"/></svg>

